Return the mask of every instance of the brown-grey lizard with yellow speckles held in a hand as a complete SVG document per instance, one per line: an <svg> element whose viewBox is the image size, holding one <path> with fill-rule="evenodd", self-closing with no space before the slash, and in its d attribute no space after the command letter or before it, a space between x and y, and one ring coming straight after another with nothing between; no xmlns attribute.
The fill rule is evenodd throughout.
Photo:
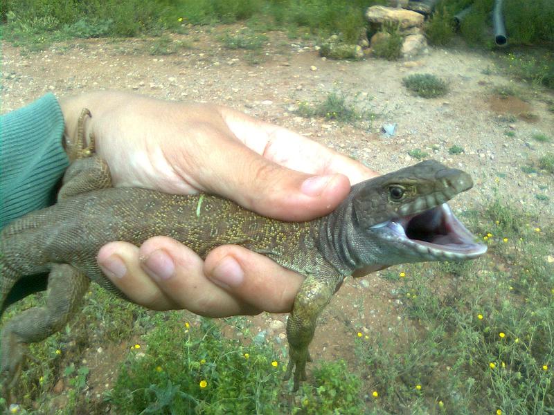
<svg viewBox="0 0 554 415"><path fill-rule="evenodd" d="M126 299L96 264L98 250L110 241L139 246L165 235L202 258L233 243L304 275L286 326L285 379L293 378L293 391L307 378L317 317L345 277L367 266L462 261L487 250L446 203L473 186L471 176L436 160L353 185L346 199L319 219L285 222L210 194L112 187L107 163L93 154L93 136L88 147L84 144L87 116L84 109L78 140L70 143L76 148L68 151L75 160L64 174L57 203L22 216L0 233L0 307L22 279L28 291L41 278L48 286L45 306L29 308L3 326L0 375L8 388L15 385L26 344L60 331L78 313L90 281Z"/></svg>

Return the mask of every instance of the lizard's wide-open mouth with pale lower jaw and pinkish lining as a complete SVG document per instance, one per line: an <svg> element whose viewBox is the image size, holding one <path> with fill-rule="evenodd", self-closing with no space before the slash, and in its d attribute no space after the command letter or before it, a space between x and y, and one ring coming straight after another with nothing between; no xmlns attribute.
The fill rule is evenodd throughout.
<svg viewBox="0 0 554 415"><path fill-rule="evenodd" d="M372 227L388 240L409 246L438 260L479 257L487 246L476 243L474 235L454 216L446 203L420 214L404 216Z"/></svg>

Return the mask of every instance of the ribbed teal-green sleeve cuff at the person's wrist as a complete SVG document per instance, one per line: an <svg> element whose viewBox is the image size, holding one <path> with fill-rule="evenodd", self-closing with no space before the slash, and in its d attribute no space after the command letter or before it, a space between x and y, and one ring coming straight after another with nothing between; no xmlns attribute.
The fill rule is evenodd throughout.
<svg viewBox="0 0 554 415"><path fill-rule="evenodd" d="M51 93L0 117L0 229L55 202L69 160L64 116Z"/></svg>

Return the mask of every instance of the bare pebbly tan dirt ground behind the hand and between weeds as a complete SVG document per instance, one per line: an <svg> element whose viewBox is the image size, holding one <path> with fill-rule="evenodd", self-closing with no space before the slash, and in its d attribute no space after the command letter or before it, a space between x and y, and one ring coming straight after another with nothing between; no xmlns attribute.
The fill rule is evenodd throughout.
<svg viewBox="0 0 554 415"><path fill-rule="evenodd" d="M552 220L554 203L540 201L535 194L554 199L553 176L521 171L521 166L554 150L553 142L532 138L533 133L544 133L554 140L554 113L546 104L554 99L552 91L510 82L487 54L463 47L430 48L429 55L411 62L346 62L322 59L312 41L269 33L267 45L253 55L224 48L218 40L220 33L237 28L191 28L188 35L172 35L188 45L172 55L150 55L152 39L76 40L37 53L3 44L1 111L17 109L47 92L63 96L99 89L216 102L294 129L379 172L416 163L408 151L417 148L465 169L474 178L474 189L452 201L454 212L483 210L498 192L515 208ZM449 93L434 99L412 95L402 86L402 77L411 73L443 77ZM494 95L494 86L506 84L515 85L521 97ZM321 101L332 91L357 97L359 107L370 109L376 118L352 125L294 113L299 101ZM380 129L390 122L397 124L396 135L386 138ZM506 131L515 135L506 136ZM449 154L453 145L465 152ZM316 356L348 358L345 351L353 349L357 331L386 333L402 318L391 295L394 284L379 273L364 280L347 279L332 299L312 344ZM280 322L285 315L262 314L251 320L268 331L268 338L284 338ZM112 349L116 360L128 347ZM106 364L107 352L89 360L91 377L102 378L100 374L113 369L111 362Z"/></svg>

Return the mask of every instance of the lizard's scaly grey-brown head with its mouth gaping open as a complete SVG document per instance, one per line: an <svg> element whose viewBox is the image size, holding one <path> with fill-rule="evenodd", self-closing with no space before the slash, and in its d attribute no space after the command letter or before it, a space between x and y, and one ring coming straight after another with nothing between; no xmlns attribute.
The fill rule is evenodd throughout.
<svg viewBox="0 0 554 415"><path fill-rule="evenodd" d="M475 242L446 204L472 186L469 174L427 160L359 183L352 189L352 214L392 260L395 254L399 261L472 259L487 247Z"/></svg>

